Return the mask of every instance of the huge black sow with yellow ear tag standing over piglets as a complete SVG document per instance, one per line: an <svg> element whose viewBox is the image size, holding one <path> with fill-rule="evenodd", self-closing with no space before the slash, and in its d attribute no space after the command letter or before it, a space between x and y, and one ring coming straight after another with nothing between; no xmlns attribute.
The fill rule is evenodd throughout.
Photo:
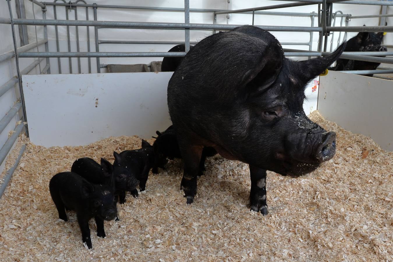
<svg viewBox="0 0 393 262"><path fill-rule="evenodd" d="M184 160L181 189L187 203L194 200L204 147L249 164L250 207L262 214L268 213L266 170L297 177L331 159L336 134L307 118L304 88L344 48L293 61L273 35L254 26L198 42L173 73L167 93Z"/></svg>

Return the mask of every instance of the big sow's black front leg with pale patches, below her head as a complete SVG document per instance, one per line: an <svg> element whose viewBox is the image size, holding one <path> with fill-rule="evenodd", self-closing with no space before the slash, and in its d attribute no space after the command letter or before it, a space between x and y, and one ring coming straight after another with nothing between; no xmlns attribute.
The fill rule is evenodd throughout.
<svg viewBox="0 0 393 262"><path fill-rule="evenodd" d="M250 209L255 212L261 211L268 214L266 204L266 170L249 165L251 178Z"/></svg>

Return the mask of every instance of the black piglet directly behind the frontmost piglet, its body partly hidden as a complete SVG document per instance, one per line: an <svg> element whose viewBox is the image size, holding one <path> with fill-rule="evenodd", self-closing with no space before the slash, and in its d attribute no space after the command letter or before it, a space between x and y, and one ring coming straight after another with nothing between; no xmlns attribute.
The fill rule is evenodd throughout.
<svg viewBox="0 0 393 262"><path fill-rule="evenodd" d="M136 187L139 181L134 176L131 176L127 169L119 165L113 167L106 159L101 158L101 165L99 165L91 158L79 158L72 164L71 172L79 174L94 184L108 183L108 181L113 179L115 195L119 196L119 203L121 204L125 203L126 191L133 193L134 197L138 196Z"/></svg>

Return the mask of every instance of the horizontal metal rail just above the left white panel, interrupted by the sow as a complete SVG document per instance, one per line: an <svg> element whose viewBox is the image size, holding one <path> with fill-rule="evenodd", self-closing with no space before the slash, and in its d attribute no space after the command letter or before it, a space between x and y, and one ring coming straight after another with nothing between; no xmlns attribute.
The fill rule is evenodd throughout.
<svg viewBox="0 0 393 262"><path fill-rule="evenodd" d="M19 57L184 57L185 52L25 52ZM319 52L295 51L286 56L320 56Z"/></svg>

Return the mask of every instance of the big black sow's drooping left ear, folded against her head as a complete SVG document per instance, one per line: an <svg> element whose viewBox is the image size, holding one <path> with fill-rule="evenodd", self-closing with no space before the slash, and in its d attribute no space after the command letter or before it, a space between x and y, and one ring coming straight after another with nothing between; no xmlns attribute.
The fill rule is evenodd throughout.
<svg viewBox="0 0 393 262"><path fill-rule="evenodd" d="M270 86L280 73L283 60L281 45L268 45L256 65L243 75L241 86L255 84L258 89Z"/></svg>

